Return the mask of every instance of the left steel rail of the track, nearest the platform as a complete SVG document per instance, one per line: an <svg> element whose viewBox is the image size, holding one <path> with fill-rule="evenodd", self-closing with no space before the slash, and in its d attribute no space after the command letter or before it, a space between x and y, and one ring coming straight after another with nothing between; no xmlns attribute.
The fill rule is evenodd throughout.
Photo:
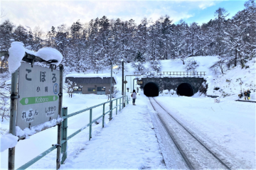
<svg viewBox="0 0 256 170"><path fill-rule="evenodd" d="M151 100L149 98L149 101L151 103ZM151 103L151 106L154 108L153 104ZM156 111L156 108L154 108L154 110ZM189 162L188 158L186 157L186 155L184 154L183 150L181 149L181 147L178 145L178 143L176 142L174 136L171 134L171 132L169 131L169 129L167 128L166 124L164 123L164 121L161 119L161 117L157 114L157 116L159 117L159 119L161 120L161 123L164 125L164 128L166 129L166 131L168 132L169 136L171 137L171 140L174 142L174 145L176 146L176 148L178 149L178 152L180 152L181 157L184 159L184 161L186 162L186 165L188 166L188 169L194 169L193 166L191 165L191 162Z"/></svg>

